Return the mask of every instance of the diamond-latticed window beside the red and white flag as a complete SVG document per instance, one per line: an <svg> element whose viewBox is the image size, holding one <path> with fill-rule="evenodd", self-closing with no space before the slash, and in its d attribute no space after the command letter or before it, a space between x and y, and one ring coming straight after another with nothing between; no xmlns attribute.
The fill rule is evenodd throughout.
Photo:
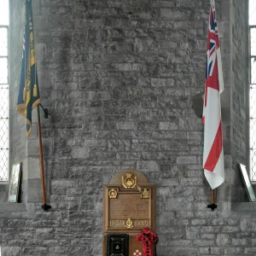
<svg viewBox="0 0 256 256"><path fill-rule="evenodd" d="M256 181L256 0L249 1L249 27L251 43L250 79L250 164L251 179Z"/></svg>

